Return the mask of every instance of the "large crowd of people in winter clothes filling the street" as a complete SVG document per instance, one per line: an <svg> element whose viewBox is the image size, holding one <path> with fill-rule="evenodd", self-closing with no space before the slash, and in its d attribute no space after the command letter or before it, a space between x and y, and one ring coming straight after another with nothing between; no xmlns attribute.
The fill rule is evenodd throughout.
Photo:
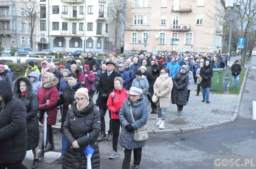
<svg viewBox="0 0 256 169"><path fill-rule="evenodd" d="M5 89L0 90L0 168L26 168L22 160L27 150L34 155L32 169L37 168L39 158L55 149L52 125L57 120L61 122L62 150L56 160L63 161L63 168L86 168L83 151L88 145L94 148L92 168L99 168L98 141L105 137L112 141L109 159L118 156L119 142L124 150L122 168L130 168L132 150L133 168L139 168L146 141L135 141L133 135L147 123L149 112L158 115L156 126L164 129L170 102L181 115L193 82L197 84L196 96L202 87L202 102L209 103L213 69L224 68L226 61L225 54L218 60L211 54L171 55L165 51L154 56L141 51L135 56L105 56L99 62L86 53L81 61L66 57L64 65L47 59L41 62L41 70L30 60L24 76L15 81L8 66L0 65L0 88ZM241 69L238 61L232 65L233 87L238 86ZM59 109L61 119L57 119ZM47 125L43 133L46 143L43 140L40 149L38 120Z"/></svg>

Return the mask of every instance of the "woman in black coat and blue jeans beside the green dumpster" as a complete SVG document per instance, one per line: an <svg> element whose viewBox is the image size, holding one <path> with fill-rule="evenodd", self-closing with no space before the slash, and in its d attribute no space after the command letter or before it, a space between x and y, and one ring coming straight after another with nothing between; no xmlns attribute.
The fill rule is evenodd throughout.
<svg viewBox="0 0 256 169"><path fill-rule="evenodd" d="M211 77L213 76L213 70L211 68L210 62L206 61L203 64L203 67L200 68L200 77L202 77L202 81L200 82L200 86L202 87L202 92L203 92L203 100L202 102L205 101L206 98L206 103L209 103L209 93L210 93L210 87L211 87Z"/></svg>

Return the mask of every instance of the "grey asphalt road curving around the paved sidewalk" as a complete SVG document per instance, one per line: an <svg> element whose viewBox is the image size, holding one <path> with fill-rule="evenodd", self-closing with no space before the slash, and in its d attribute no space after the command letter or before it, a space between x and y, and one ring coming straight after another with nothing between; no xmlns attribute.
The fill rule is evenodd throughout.
<svg viewBox="0 0 256 169"><path fill-rule="evenodd" d="M247 66L249 70L239 115L233 123L190 133L150 135L142 150L140 169L210 169L214 166L214 155L256 155L256 121L252 120L252 101L256 100L256 69L251 69L256 67L256 58L252 58L251 64ZM61 134L55 131L54 135L56 149L45 153L45 159L40 161L39 168L62 168L61 162L54 161L60 156ZM123 151L118 147L118 157L109 160L111 147L111 142L99 142L101 169L121 168ZM27 154L31 154L31 150ZM28 168L32 166L30 159L25 159L23 163ZM133 160L131 167L132 165Z"/></svg>

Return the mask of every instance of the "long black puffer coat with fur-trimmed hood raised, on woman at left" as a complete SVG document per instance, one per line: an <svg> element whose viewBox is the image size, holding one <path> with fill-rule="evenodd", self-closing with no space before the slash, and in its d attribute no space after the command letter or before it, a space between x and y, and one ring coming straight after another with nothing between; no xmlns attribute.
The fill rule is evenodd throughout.
<svg viewBox="0 0 256 169"><path fill-rule="evenodd" d="M27 85L27 90L24 96L20 93L19 83L24 81ZM18 77L12 88L13 96L20 99L27 110L27 150L34 149L39 142L39 125L37 119L37 112L39 107L38 98L33 93L32 82L25 76Z"/></svg>

